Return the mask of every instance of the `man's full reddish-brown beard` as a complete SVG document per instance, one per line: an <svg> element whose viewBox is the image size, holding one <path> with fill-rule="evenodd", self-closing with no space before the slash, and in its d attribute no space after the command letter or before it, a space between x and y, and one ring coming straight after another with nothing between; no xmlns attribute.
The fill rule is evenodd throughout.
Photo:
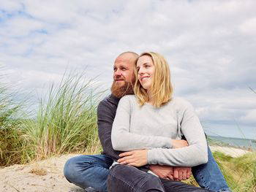
<svg viewBox="0 0 256 192"><path fill-rule="evenodd" d="M131 82L125 82L125 84L121 86L118 85L118 82L116 83L115 81L113 81L111 86L111 92L117 98L134 94Z"/></svg>

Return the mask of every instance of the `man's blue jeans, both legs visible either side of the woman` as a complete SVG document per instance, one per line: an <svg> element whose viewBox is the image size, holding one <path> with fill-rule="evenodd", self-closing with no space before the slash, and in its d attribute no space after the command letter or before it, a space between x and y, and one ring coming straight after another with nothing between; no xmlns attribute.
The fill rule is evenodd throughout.
<svg viewBox="0 0 256 192"><path fill-rule="evenodd" d="M81 188L92 187L97 191L107 191L107 178L112 163L113 160L108 155L79 155L66 162L64 175L69 182ZM192 167L192 173L202 188L229 191L209 148L208 163Z"/></svg>

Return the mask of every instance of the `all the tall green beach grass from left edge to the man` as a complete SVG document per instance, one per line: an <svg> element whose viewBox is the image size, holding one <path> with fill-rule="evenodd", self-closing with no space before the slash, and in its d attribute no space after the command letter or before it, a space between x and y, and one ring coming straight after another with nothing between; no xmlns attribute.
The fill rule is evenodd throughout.
<svg viewBox="0 0 256 192"><path fill-rule="evenodd" d="M99 153L97 104L104 91L83 74L64 74L38 101L23 111L0 86L0 166L24 164L64 153ZM22 114L22 115L21 115Z"/></svg>

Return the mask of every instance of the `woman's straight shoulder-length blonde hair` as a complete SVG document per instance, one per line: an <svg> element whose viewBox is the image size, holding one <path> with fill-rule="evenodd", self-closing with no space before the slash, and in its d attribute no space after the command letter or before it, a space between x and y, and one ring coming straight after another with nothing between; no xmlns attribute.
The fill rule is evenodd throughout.
<svg viewBox="0 0 256 192"><path fill-rule="evenodd" d="M152 104L154 105L154 107L161 107L162 105L170 101L173 95L173 85L170 82L169 65L167 64L165 58L159 53L142 53L140 54L138 59L143 55L148 55L153 60L154 75L153 82L151 85ZM138 103L140 104L140 106L142 106L148 101L148 94L146 93L146 89L143 88L143 86L140 84L138 80L137 62L135 63L134 93L138 98Z"/></svg>

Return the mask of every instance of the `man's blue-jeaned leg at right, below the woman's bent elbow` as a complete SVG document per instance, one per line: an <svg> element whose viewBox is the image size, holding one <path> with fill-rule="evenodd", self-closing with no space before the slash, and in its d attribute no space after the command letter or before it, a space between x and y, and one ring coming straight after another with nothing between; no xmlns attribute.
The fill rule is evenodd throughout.
<svg viewBox="0 0 256 192"><path fill-rule="evenodd" d="M213 191L230 191L214 157L208 147L208 162L192 167L195 180L202 188Z"/></svg>

